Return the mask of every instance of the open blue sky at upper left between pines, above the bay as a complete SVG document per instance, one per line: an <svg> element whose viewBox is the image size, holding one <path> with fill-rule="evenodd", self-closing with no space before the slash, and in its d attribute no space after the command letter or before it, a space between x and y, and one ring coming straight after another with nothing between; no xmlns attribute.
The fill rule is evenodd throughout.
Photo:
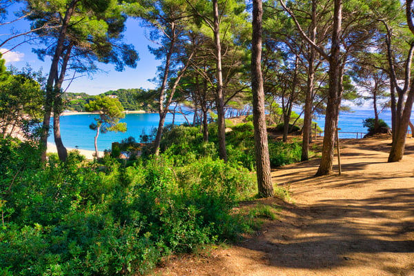
<svg viewBox="0 0 414 276"><path fill-rule="evenodd" d="M16 8L16 7L14 7ZM9 17L12 17L12 12L9 12ZM30 22L19 21L13 26L11 24L0 26L0 43L6 39L10 30L23 31L30 28ZM0 52L5 52L11 49L13 46L21 40L14 39L2 46ZM161 61L155 60L154 57L148 51L148 44L150 41L146 39L144 29L139 26L139 22L136 19L128 19L126 22L126 32L124 32L124 42L132 44L139 53L139 61L137 68L126 68L123 72L117 72L115 67L111 64L97 63L99 69L104 72L97 72L92 76L92 79L88 76L77 75L77 78L72 81L68 88L68 92L86 92L90 95L97 95L108 90L117 90L119 88L155 88L155 84L148 81L157 74L157 66ZM50 59L40 61L37 59L37 55L32 53L32 48L37 48L37 45L30 45L24 43L17 48L14 48L12 52L8 52L3 55L6 59L6 66L15 66L17 68L23 68L26 64L29 64L32 68L38 70L43 68L43 74L47 75L50 69ZM68 79L72 77L73 72L70 72ZM68 81L63 83L63 89L68 86Z"/></svg>

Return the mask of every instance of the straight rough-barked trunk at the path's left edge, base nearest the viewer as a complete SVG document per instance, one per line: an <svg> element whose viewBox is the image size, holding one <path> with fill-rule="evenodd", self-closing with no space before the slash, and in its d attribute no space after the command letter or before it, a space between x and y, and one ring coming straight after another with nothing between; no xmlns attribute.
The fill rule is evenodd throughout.
<svg viewBox="0 0 414 276"><path fill-rule="evenodd" d="M273 197L273 184L270 175L270 159L264 110L264 88L262 77L262 0L253 0L252 37L252 92L253 123L255 125L255 155L257 167L257 188L259 197Z"/></svg>

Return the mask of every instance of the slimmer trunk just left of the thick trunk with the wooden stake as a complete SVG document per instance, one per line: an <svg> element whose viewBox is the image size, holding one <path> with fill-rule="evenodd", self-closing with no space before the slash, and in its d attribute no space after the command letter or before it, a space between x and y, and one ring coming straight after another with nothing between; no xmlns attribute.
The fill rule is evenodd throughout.
<svg viewBox="0 0 414 276"><path fill-rule="evenodd" d="M311 22L311 41L316 39L316 1L312 1L312 22ZM308 59L308 80L306 83L306 97L304 108L304 128L302 132L302 155L301 161L309 160L309 144L311 143L312 135L312 103L313 93L315 88L315 59L316 50L310 47L310 55Z"/></svg>

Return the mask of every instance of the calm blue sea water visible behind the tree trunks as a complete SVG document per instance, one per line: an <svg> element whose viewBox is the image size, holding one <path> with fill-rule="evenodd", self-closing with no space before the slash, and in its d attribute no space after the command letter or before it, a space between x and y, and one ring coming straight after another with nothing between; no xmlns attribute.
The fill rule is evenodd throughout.
<svg viewBox="0 0 414 276"><path fill-rule="evenodd" d="M356 138L356 134L344 132L363 132L367 130L362 126L362 120L373 118L373 110L355 110L353 112L341 112L339 115L339 132L340 138ZM413 118L413 116L412 116ZM188 119L191 121L193 117L190 115ZM380 114L380 119L386 121L391 126L391 111L386 110ZM159 115L157 113L150 114L127 114L122 122L127 124L128 130L125 133L107 132L99 134L98 149L109 149L113 141L121 141L130 136L135 137L139 141L139 135L149 134L152 128L158 126ZM318 117L315 121L320 128L324 128L324 117ZM94 115L69 115L61 117L61 137L63 144L68 148L81 148L84 150L95 150L94 137L95 131L90 130L89 125L94 122ZM166 124L172 122L172 115L168 114ZM186 119L182 115L175 116L175 124L183 124ZM360 134L359 134L360 136ZM49 138L53 142L53 138Z"/></svg>

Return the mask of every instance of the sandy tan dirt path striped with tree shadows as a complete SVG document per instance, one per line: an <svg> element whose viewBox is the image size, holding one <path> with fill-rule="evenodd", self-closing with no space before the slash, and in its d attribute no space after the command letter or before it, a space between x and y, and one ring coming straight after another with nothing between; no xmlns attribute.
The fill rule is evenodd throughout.
<svg viewBox="0 0 414 276"><path fill-rule="evenodd" d="M295 201L284 204L279 221L208 256L173 259L157 273L414 276L414 139L393 164L386 163L389 143L342 141L340 176L314 178L318 161L275 170L274 181Z"/></svg>

